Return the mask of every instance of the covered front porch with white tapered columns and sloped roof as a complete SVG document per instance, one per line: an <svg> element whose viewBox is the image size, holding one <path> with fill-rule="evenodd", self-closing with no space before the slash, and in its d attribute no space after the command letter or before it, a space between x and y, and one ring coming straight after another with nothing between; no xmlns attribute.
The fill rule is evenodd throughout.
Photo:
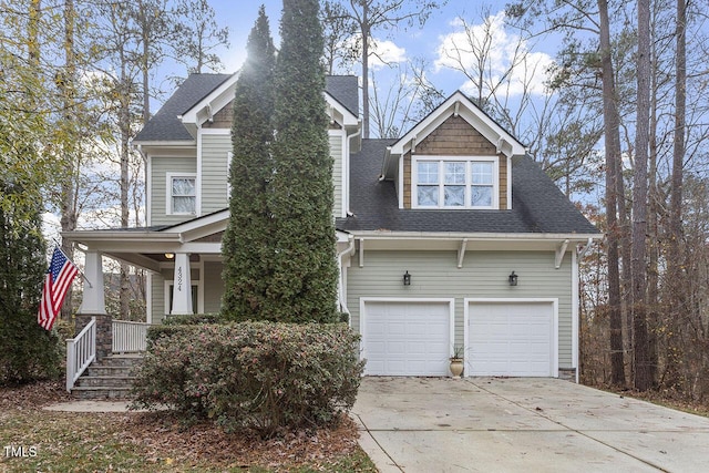
<svg viewBox="0 0 709 473"><path fill-rule="evenodd" d="M147 323L169 315L218 311L227 218L222 210L173 226L63 233L85 255L79 313L106 315L103 256L146 270Z"/></svg>

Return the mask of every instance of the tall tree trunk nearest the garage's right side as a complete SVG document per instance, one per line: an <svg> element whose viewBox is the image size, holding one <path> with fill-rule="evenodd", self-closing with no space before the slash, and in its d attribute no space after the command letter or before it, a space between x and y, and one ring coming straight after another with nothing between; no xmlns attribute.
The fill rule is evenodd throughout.
<svg viewBox="0 0 709 473"><path fill-rule="evenodd" d="M610 321L610 369L612 382L625 385L625 366L623 353L623 319L620 311L620 275L618 270L618 225L616 181L617 161L620 160L619 117L616 105L616 91L610 55L610 24L607 0L598 0L600 18L600 58L603 73L603 110L606 147L606 223L608 244L608 310Z"/></svg>

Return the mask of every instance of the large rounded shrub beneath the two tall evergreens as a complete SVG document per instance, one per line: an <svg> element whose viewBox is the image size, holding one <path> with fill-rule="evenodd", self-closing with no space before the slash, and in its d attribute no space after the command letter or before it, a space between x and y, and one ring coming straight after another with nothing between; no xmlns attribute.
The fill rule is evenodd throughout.
<svg viewBox="0 0 709 473"><path fill-rule="evenodd" d="M363 362L345 325L240 322L158 337L134 383L134 407L271 436L328 424L354 404Z"/></svg>

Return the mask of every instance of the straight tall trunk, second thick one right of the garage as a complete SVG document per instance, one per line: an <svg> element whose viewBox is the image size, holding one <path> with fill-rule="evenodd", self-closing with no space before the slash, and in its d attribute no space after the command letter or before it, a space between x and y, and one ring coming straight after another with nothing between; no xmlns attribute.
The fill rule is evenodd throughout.
<svg viewBox="0 0 709 473"><path fill-rule="evenodd" d="M635 388L654 383L647 327L647 162L650 119L650 2L638 0L637 120L633 174L633 329Z"/></svg>

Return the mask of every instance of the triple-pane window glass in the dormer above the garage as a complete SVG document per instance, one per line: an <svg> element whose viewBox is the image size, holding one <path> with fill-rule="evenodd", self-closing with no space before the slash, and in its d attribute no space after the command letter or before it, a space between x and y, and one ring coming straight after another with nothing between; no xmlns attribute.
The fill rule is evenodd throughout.
<svg viewBox="0 0 709 473"><path fill-rule="evenodd" d="M496 161L427 158L414 164L414 207L495 208Z"/></svg>

